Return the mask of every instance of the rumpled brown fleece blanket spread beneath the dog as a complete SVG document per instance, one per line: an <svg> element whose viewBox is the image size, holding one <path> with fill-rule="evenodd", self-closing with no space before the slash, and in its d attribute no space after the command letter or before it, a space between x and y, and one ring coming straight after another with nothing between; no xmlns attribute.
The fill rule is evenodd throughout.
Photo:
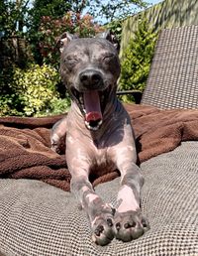
<svg viewBox="0 0 198 256"><path fill-rule="evenodd" d="M139 161L175 149L181 141L198 139L197 110L159 110L126 105L133 119ZM62 116L46 118L0 118L0 178L41 180L69 191L70 174L63 155L50 150L50 128ZM118 177L93 174L93 185Z"/></svg>

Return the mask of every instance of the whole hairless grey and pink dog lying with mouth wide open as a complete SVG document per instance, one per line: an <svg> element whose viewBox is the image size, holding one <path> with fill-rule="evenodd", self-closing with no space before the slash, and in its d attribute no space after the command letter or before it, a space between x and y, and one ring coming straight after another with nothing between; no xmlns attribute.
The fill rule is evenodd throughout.
<svg viewBox="0 0 198 256"><path fill-rule="evenodd" d="M144 178L136 165L131 119L116 96L117 44L109 32L81 39L64 33L60 44L60 75L72 103L67 116L52 128L51 147L58 151L65 139L71 192L90 219L93 240L99 245L114 237L131 241L149 227L140 208ZM96 169L120 171L116 209L94 192L89 175Z"/></svg>

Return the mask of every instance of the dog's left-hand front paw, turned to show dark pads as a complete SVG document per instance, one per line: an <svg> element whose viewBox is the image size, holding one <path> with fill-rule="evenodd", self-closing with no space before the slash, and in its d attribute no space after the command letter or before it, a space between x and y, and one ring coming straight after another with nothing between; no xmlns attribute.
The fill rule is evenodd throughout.
<svg viewBox="0 0 198 256"><path fill-rule="evenodd" d="M115 236L113 216L96 217L92 224L92 240L98 245L107 245Z"/></svg>

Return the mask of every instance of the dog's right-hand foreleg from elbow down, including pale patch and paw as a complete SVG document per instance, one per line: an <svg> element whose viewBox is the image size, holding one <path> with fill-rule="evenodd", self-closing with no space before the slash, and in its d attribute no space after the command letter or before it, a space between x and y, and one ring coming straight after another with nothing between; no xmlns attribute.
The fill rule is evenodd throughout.
<svg viewBox="0 0 198 256"><path fill-rule="evenodd" d="M121 170L121 188L118 192L119 206L115 213L116 237L125 242L139 238L148 230L148 220L140 208L143 177L139 168L131 163Z"/></svg>

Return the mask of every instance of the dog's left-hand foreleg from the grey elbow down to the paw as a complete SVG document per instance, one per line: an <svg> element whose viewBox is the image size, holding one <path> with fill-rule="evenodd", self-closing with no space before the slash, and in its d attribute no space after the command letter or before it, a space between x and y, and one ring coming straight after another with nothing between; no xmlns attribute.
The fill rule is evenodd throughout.
<svg viewBox="0 0 198 256"><path fill-rule="evenodd" d="M86 172L71 175L71 192L79 198L89 217L92 239L99 245L108 244L114 238L113 209L93 191Z"/></svg>

